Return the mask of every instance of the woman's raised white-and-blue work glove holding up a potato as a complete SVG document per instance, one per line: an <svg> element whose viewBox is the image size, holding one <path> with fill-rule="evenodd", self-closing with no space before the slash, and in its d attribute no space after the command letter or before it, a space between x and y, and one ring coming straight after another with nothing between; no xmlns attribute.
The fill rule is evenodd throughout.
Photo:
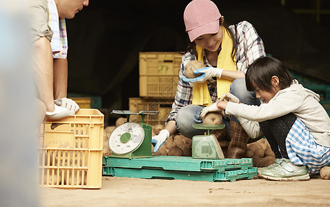
<svg viewBox="0 0 330 207"><path fill-rule="evenodd" d="M205 81L211 79L212 77L221 78L222 71L224 71L224 69L213 68L213 67L199 68L193 71L194 74L200 75L199 77L195 77L193 79L187 79L185 76L182 76L182 80L192 83L204 83Z"/></svg>

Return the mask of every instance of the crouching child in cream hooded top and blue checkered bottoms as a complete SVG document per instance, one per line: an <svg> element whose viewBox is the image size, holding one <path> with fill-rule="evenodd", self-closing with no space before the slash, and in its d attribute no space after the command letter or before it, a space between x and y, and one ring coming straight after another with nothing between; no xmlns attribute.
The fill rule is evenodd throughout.
<svg viewBox="0 0 330 207"><path fill-rule="evenodd" d="M228 93L224 101L204 108L201 116L224 110L235 115L252 138L264 134L276 159L271 166L258 168L260 177L303 181L327 168L330 118L319 103L320 96L294 80L284 64L272 57L252 63L245 79L246 88L262 101L260 106L240 103Z"/></svg>

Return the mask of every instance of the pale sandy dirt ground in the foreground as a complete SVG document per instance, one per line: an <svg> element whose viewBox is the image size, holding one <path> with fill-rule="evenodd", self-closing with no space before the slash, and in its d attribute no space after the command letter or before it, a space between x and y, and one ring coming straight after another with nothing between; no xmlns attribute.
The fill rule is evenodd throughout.
<svg viewBox="0 0 330 207"><path fill-rule="evenodd" d="M40 188L41 206L330 206L330 180L209 182L102 177L100 189Z"/></svg>

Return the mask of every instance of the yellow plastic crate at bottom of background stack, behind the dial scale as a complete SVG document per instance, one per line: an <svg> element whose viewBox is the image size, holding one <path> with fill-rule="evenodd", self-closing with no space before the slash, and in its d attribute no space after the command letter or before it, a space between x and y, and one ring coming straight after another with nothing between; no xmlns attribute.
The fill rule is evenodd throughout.
<svg viewBox="0 0 330 207"><path fill-rule="evenodd" d="M172 110L174 99L148 99L148 98L129 98L129 110L139 112L141 110L159 111L158 115L147 115L144 118L146 124L155 126L157 124L165 124L165 121ZM141 116L131 115L130 121L141 121Z"/></svg>

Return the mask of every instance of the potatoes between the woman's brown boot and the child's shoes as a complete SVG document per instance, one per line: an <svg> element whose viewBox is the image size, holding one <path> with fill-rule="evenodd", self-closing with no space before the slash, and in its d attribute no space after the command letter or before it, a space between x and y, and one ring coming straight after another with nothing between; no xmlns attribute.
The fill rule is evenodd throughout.
<svg viewBox="0 0 330 207"><path fill-rule="evenodd" d="M246 157L251 157L253 166L258 168L270 166L275 161L275 154L267 139L260 139L247 144Z"/></svg>

